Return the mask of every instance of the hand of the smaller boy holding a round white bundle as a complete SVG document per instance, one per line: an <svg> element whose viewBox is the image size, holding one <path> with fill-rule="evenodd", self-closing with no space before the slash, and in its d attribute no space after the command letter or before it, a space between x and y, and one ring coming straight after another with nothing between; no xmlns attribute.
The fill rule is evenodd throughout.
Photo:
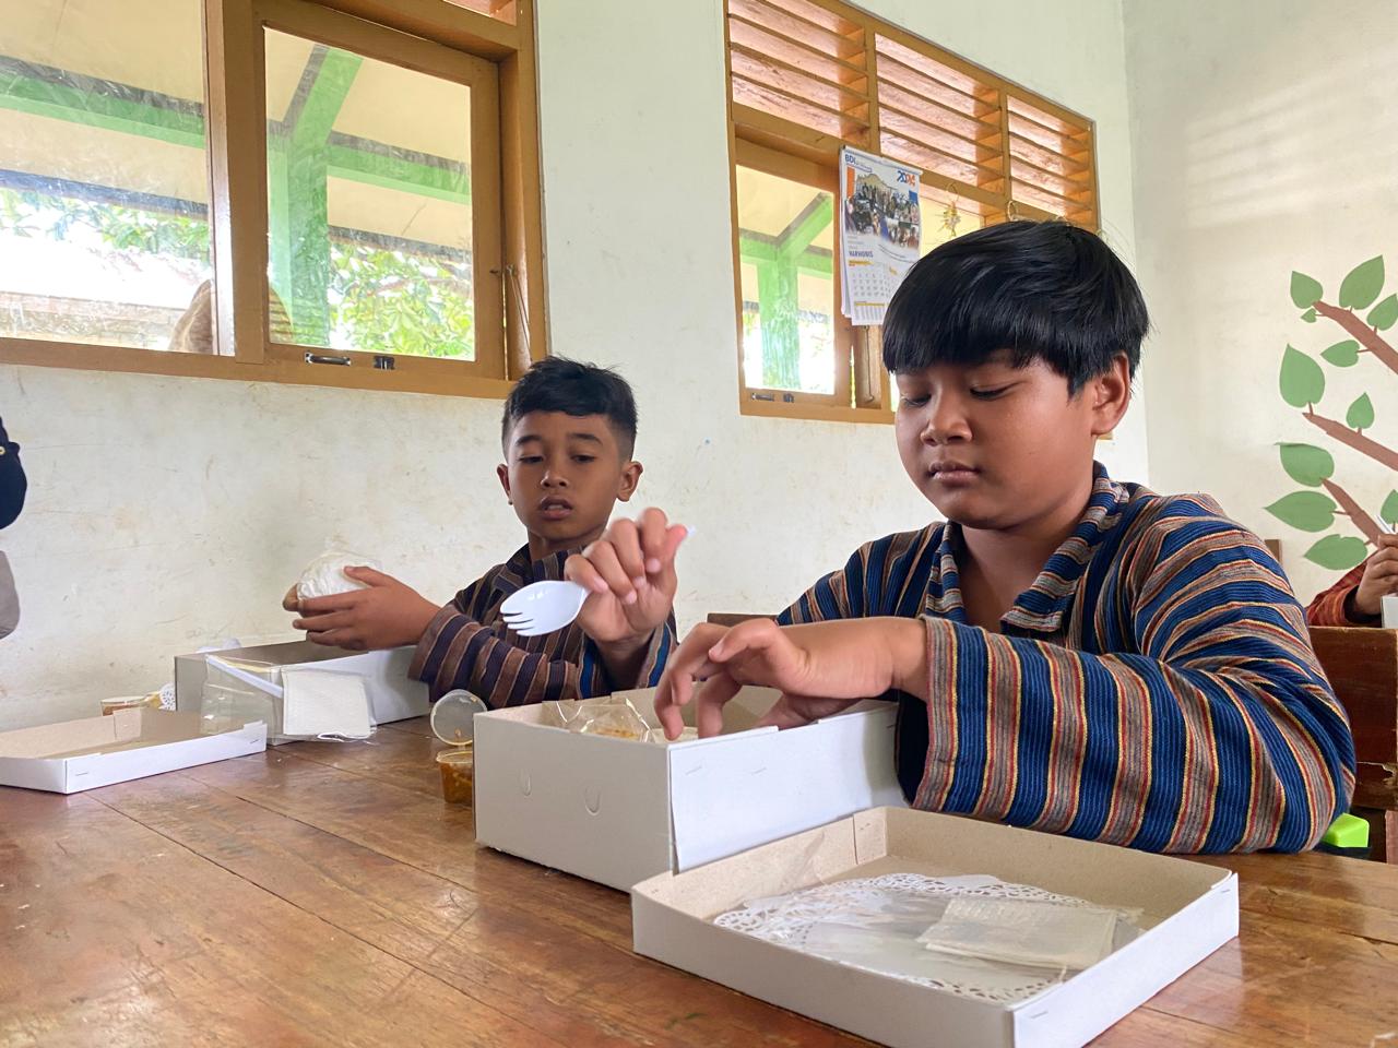
<svg viewBox="0 0 1398 1048"><path fill-rule="evenodd" d="M298 601L301 618L292 629L306 630L306 639L316 644L350 651L396 648L417 644L440 611L417 590L372 567L347 567L345 576L369 588Z"/></svg>

